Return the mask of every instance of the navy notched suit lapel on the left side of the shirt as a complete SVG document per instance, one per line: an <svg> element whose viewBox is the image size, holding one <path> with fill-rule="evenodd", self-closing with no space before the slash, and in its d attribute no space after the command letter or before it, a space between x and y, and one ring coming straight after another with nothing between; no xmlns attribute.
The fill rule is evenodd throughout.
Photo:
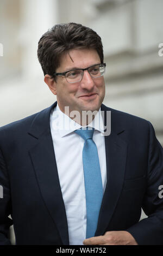
<svg viewBox="0 0 163 256"><path fill-rule="evenodd" d="M35 146L30 150L40 192L47 210L57 226L62 243L68 245L68 227L64 200L62 198L57 163L49 126L49 117L52 108L40 112L36 116L29 134L37 139Z"/></svg>

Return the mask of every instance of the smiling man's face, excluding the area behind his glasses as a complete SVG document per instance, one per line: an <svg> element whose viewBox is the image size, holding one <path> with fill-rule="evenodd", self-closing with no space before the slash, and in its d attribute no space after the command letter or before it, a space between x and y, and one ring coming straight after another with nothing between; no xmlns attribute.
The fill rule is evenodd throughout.
<svg viewBox="0 0 163 256"><path fill-rule="evenodd" d="M62 56L60 67L55 72L87 68L99 63L101 61L96 50L74 49ZM91 78L87 70L84 71L82 81L73 84L68 83L65 77L58 76L53 88L51 91L57 95L62 112L65 112L65 106L69 106L70 111L79 111L80 114L83 110L98 111L105 96L104 77Z"/></svg>

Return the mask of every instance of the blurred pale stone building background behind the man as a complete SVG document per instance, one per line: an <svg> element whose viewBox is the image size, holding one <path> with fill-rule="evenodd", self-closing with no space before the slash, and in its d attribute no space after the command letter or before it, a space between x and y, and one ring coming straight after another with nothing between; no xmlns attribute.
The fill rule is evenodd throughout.
<svg viewBox="0 0 163 256"><path fill-rule="evenodd" d="M56 100L37 43L56 23L77 22L103 41L104 104L151 121L163 145L162 10L162 0L0 0L0 126Z"/></svg>

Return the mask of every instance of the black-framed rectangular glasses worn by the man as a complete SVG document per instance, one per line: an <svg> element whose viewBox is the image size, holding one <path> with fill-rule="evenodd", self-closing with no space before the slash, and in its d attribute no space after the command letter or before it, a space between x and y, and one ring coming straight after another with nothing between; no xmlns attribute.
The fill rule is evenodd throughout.
<svg viewBox="0 0 163 256"><path fill-rule="evenodd" d="M105 74L106 63L95 64L88 68L79 68L68 70L63 73L54 73L53 75L65 76L66 81L70 84L74 82L80 82L83 79L84 70L87 70L91 76L91 78L100 78Z"/></svg>

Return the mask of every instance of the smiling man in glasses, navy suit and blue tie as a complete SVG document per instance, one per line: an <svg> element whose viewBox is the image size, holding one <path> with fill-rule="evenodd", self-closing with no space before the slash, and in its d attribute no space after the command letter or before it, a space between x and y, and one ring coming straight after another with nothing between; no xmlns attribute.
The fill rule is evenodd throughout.
<svg viewBox="0 0 163 256"><path fill-rule="evenodd" d="M37 53L57 102L0 129L1 244L13 222L17 245L162 245L163 150L151 123L102 104L101 38L56 25Z"/></svg>

